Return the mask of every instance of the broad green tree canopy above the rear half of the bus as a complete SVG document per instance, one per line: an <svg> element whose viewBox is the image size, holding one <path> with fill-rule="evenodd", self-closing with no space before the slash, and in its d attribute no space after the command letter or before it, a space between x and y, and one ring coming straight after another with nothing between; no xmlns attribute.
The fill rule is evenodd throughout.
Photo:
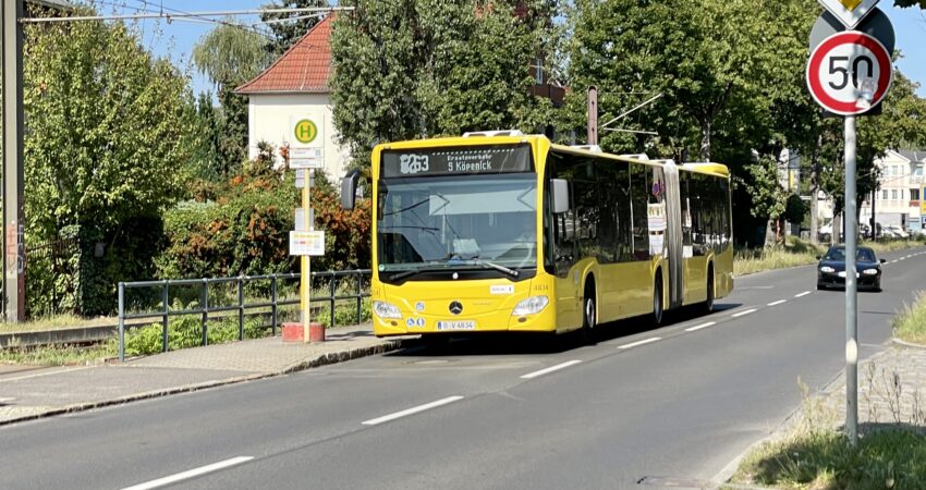
<svg viewBox="0 0 926 490"><path fill-rule="evenodd" d="M812 0L577 0L568 15L569 85L598 87L600 121L638 105L644 94L661 94L620 122L658 135L602 132L601 146L727 161L741 183L768 186L753 195L736 191L736 222L763 220L765 212L780 212L781 200L765 166L775 167L789 142L804 134L811 106L803 64L815 12ZM568 106L570 122L584 125L584 90L574 90ZM758 167L750 166L753 151ZM759 213L754 198L764 203Z"/></svg>

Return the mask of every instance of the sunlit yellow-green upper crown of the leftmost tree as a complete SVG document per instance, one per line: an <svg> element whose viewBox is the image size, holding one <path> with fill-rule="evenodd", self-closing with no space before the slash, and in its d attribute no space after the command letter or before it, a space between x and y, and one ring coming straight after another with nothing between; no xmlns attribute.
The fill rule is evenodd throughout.
<svg viewBox="0 0 926 490"><path fill-rule="evenodd" d="M196 147L188 78L121 24L29 25L28 230L118 228L175 199Z"/></svg>

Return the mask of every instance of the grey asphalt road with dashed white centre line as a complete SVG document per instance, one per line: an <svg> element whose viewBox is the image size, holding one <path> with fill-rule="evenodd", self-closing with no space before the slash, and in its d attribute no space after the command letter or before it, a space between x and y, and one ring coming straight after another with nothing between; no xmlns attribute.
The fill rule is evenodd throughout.
<svg viewBox="0 0 926 490"><path fill-rule="evenodd" d="M858 295L863 358L882 348L926 270L926 249L885 257L884 292ZM461 341L0 428L0 488L656 489L711 479L800 405L799 380L816 390L844 369L844 294L816 291L814 274L739 278L710 316L602 326L589 346Z"/></svg>

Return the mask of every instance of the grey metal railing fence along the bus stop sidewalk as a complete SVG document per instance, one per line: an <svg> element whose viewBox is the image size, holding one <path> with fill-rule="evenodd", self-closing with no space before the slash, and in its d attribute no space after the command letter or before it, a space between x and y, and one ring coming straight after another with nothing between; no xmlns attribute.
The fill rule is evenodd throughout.
<svg viewBox="0 0 926 490"><path fill-rule="evenodd" d="M328 295L319 296L317 294L317 290L313 290L312 298L309 304L316 303L327 303L330 308L330 320L331 327L336 326L336 316L334 310L337 306L337 302L339 299L354 299L356 302L357 315L356 318L360 321L362 318L362 309L363 309L363 298L369 297L369 289L364 287L364 282L369 284L369 275L371 271L369 269L357 269L357 270L346 270L346 271L326 271L326 272L313 272L312 281L317 282L318 280L328 280ZM165 281L138 281L138 282L120 282L119 283L119 360L125 360L125 330L126 328L139 328L139 327L148 327L151 323L134 323L134 324L125 324L125 320L134 320L134 319L154 319L160 318L161 320L161 343L162 350L161 352L168 352L169 346L169 327L170 327L170 318L171 317L180 317L180 316L190 316L190 315L199 315L199 327L202 332L202 343L200 345L208 345L209 343L209 319L210 314L221 314L229 311L237 313L237 340L244 340L244 317L247 311L253 311L255 309L264 310L266 308L270 309L270 328L272 334L277 334L277 326L279 308L281 306L289 305L298 305L298 297L295 298L283 298L279 297L279 286L280 282L284 280L294 281L301 278L298 273L285 273L285 274L267 274L267 275L241 275L237 278L212 278L212 279L181 279L181 280L165 280ZM353 278L355 282L355 289L353 294L338 294L339 283L345 278ZM245 301L245 286L252 284L257 281L269 281L270 282L270 298L266 302L259 303L247 303ZM216 284L235 284L236 287L236 302L231 305L210 305L209 304L209 286ZM171 307L170 294L171 287L191 287L198 286L198 306L194 308L183 307L180 309L173 309ZM158 304L159 308L157 310L144 309L142 311L126 313L126 303L125 303L125 293L127 290L138 290L138 289L159 289L160 290L160 302ZM254 314L254 313L252 313ZM266 311L258 311L258 314L266 314ZM214 317L215 319L215 317Z"/></svg>

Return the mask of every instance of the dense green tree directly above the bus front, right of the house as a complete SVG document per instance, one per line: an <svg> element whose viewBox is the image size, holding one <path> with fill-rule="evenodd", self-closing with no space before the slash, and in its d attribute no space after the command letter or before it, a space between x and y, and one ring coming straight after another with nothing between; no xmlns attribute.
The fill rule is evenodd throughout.
<svg viewBox="0 0 926 490"><path fill-rule="evenodd" d="M334 125L356 166L378 142L550 122L549 100L529 95L553 5L517 1L390 0L334 22Z"/></svg>

